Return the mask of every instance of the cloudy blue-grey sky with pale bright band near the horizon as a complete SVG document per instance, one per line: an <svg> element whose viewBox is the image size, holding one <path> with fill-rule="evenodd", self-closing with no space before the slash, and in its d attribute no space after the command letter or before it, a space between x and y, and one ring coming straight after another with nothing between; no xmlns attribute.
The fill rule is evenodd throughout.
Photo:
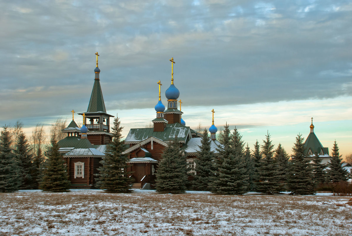
<svg viewBox="0 0 352 236"><path fill-rule="evenodd" d="M288 152L298 133L352 152L351 1L6 1L0 14L0 123L26 131L87 110L95 52L109 114L145 127L161 80L182 118L237 126L253 147L269 131ZM76 119L79 119L78 117Z"/></svg>

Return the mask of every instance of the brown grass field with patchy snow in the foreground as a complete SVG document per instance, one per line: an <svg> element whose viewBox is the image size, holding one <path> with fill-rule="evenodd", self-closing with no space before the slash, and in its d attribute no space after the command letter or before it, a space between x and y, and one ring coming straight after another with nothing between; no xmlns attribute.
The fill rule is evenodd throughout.
<svg viewBox="0 0 352 236"><path fill-rule="evenodd" d="M350 197L329 195L0 193L0 235L351 236Z"/></svg>

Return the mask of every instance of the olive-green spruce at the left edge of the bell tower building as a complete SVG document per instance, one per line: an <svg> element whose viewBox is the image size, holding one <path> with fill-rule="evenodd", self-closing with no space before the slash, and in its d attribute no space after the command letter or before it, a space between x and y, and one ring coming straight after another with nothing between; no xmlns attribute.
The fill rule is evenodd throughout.
<svg viewBox="0 0 352 236"><path fill-rule="evenodd" d="M47 153L48 159L44 163L39 188L45 192L69 192L71 183L56 140L51 139L51 146L48 147Z"/></svg>

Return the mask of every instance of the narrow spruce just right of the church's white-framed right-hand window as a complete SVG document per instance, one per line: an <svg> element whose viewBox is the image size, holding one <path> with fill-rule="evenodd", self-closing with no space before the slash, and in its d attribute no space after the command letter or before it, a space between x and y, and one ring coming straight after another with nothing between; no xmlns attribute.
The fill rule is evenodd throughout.
<svg viewBox="0 0 352 236"><path fill-rule="evenodd" d="M211 151L211 142L208 130L204 129L195 162L196 175L194 176L193 187L196 190L208 191L208 185L214 175L214 151Z"/></svg>

